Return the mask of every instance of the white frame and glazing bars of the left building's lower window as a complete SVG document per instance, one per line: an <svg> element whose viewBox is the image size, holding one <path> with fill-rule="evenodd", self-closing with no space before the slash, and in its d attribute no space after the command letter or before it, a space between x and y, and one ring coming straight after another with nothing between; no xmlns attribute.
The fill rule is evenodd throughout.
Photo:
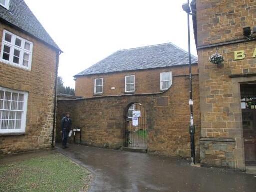
<svg viewBox="0 0 256 192"><path fill-rule="evenodd" d="M5 100L5 92L11 92L11 101L10 101L10 109L4 109L4 102L3 102L3 108L0 109L0 134L8 134L8 133L25 133L26 130L26 114L27 114L27 100L28 100L28 92L24 92L24 91L18 91L18 90L12 90L12 89L8 89L8 88L3 88L0 87L1 91L4 91L4 100ZM13 93L18 93L18 94L24 94L24 100L23 100L23 110L11 110L11 104L12 104L12 94ZM4 101L3 100L3 101ZM21 116L21 126L20 129L1 129L2 126L2 112L3 111L18 111L18 112L22 112L22 116ZM9 117L8 117L9 118ZM16 120L16 117L15 119ZM9 123L9 122L8 122Z"/></svg>

